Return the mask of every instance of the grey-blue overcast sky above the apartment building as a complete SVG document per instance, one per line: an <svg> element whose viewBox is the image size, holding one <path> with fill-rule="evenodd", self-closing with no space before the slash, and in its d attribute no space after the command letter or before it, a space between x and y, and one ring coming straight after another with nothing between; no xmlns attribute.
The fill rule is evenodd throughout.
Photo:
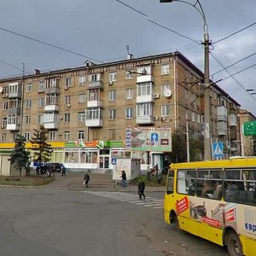
<svg viewBox="0 0 256 256"><path fill-rule="evenodd" d="M97 63L125 60L126 45L135 57L178 50L203 71L204 51L198 44L204 34L203 19L188 4L160 0L1 2L0 78L21 74L22 63L25 72L32 73L34 68L78 67L87 59ZM246 91L256 92L256 1L201 0L201 6L212 43L220 40L212 44L211 79L223 79L218 86L256 115L256 95Z"/></svg>

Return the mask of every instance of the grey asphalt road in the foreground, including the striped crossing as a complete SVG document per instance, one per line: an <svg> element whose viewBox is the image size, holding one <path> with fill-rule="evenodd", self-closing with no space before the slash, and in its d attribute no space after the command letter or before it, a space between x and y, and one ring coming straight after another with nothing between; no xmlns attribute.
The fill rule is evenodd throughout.
<svg viewBox="0 0 256 256"><path fill-rule="evenodd" d="M165 224L161 192L0 188L1 255L227 255Z"/></svg>

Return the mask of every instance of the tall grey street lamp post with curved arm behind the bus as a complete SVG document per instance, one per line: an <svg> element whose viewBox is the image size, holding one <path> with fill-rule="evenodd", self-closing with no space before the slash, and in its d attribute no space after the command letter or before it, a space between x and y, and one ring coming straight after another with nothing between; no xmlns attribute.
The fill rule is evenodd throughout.
<svg viewBox="0 0 256 256"><path fill-rule="evenodd" d="M201 3L199 0L196 0L195 4L183 1L183 0L160 0L160 3L172 3L172 2L179 2L179 3L186 3L195 8L201 15L203 21L204 21L204 41L202 45L204 45L205 48L205 61L204 61L204 103L205 103L205 109L204 109L204 123L205 123L205 139L204 139L204 157L205 160L212 159L212 146L211 146L211 102L210 102L210 67L209 67L209 46L212 44L209 39L209 34L207 31L207 19L206 15L204 13L204 10L201 7Z"/></svg>

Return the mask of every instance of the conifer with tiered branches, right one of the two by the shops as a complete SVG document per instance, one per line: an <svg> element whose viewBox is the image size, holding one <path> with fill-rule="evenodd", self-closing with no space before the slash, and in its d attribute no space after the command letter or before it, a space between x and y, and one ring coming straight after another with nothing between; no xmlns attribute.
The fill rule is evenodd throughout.
<svg viewBox="0 0 256 256"><path fill-rule="evenodd" d="M42 163L49 162L52 148L49 143L47 134L49 131L44 129L44 126L40 126L39 130L34 129L32 140L32 150L34 151L34 161L38 162L39 172L42 175Z"/></svg>

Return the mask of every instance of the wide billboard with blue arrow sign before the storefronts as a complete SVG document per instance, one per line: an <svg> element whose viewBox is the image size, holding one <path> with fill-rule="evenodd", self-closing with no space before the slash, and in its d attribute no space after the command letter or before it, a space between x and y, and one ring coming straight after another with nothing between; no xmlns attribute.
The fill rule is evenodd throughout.
<svg viewBox="0 0 256 256"><path fill-rule="evenodd" d="M125 150L172 151L171 127L127 127Z"/></svg>

